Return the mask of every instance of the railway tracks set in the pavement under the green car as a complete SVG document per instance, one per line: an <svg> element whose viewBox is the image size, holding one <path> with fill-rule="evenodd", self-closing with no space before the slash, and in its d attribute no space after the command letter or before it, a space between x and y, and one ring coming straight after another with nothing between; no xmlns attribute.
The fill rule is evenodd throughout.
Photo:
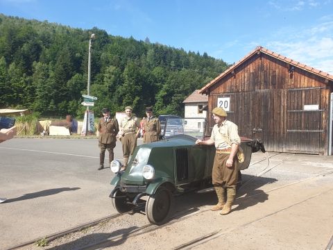
<svg viewBox="0 0 333 250"><path fill-rule="evenodd" d="M266 157L266 159L264 158L263 160L268 160L269 158L272 158L273 156L276 156L278 154L279 153L275 153L274 155ZM280 161L280 163L278 163L278 164L276 164L276 165L274 165L272 167L269 167L269 160L268 160L268 165L265 167L265 169L262 172L260 172L260 174L258 174L257 176L253 176L253 178L250 178L246 183L244 183L244 185L248 185L248 183L255 181L255 178L258 178L262 174L270 171L271 169L273 169L275 167L278 167L278 165L281 165L285 160L288 160L290 157L291 156L282 159ZM255 164L259 163L259 162L262 162L263 160L259 160L258 162L253 163L252 165L255 165ZM266 193L274 192L275 190L280 190L280 189L283 189L283 188L287 188L287 187L290 187L292 185L296 185L296 184L301 183L301 182L310 181L311 179L318 178L319 176L327 176L329 174L333 174L333 170L329 171L329 172L324 172L324 173L321 173L321 174L316 174L315 176L311 176L309 178L305 178L305 179L302 179L300 181L296 181L294 183L289 183L287 185L283 185L283 186L278 187L278 188L273 188L271 190L266 191ZM241 188L243 188L243 185L241 186ZM325 192L330 192L330 191L332 191L332 190L327 190ZM312 197L309 197L308 199L313 199L313 198L317 197L318 195L324 194L325 192L322 192L320 194L316 194L316 195L314 195ZM259 195L259 194L252 194L252 195L248 195L246 197L239 197L239 198L237 198L237 200L238 201L244 201L246 199L253 198L253 197L257 196L257 195ZM296 206L298 203L305 202L308 199L304 199L302 201L294 203L291 206L288 206L286 208L282 208L281 210L275 211L275 213L280 213L282 210L286 210L288 208ZM124 234L121 234L121 235L114 235L112 237L105 238L103 240L99 240L97 242L93 242L92 244L87 244L84 247L78 247L78 248L75 248L75 249L103 249L105 247L112 247L112 245L116 244L116 242L119 242L119 240L121 240L121 238L128 239L128 238L133 238L133 237L138 236L138 235L142 235L144 233L149 233L149 232L157 230L157 228L163 228L163 227L166 227L166 226L171 226L172 224L176 224L178 222L181 222L182 220L188 219L189 217L192 217L194 215L198 215L199 213L206 213L207 211L210 211L210 209L207 208L207 206L199 206L199 207L197 207L195 209L194 212L191 212L191 210L189 210L189 211L186 211L185 213L176 213L173 217L171 217L171 220L170 220L169 223L164 224L162 226L156 226L155 224L145 224L144 226L137 226L135 229L133 229L131 231L128 231L127 233L124 233ZM78 232L78 231L83 231L86 228L95 226L97 224L101 224L103 222L112 223L112 221L114 221L116 219L121 219L121 217L124 217L124 216L129 215L129 214L133 214L133 213L137 213L137 211L133 211L132 210L132 211L130 211L128 213L117 214L117 215L110 215L108 217L103 217L101 219L96 219L94 222L88 222L86 224L81 224L81 225L76 226L74 228L69 228L66 231L61 231L61 232L58 232L58 233L54 233L52 235L47 235L44 239L47 242L52 242L53 240L56 240L58 238L62 238L63 236L69 235L70 233L75 233L75 232ZM204 242L213 240L214 238L218 238L218 237L220 237L221 235L223 235L225 233L237 230L237 228L240 228L242 226L246 226L248 224L252 224L254 222L259 221L260 219L264 219L266 217L274 215L275 213L271 213L270 215L265 215L264 217L261 217L259 219L255 219L252 222L247 222L246 224L242 224L240 226L237 226L237 227L234 227L234 228L230 228L230 229L228 229L228 231L223 231L222 229L220 229L220 230L208 233L207 235L203 235L200 238L196 238L195 240L191 240L191 241L189 241L189 242L187 242L185 244L181 244L180 246L178 246L178 247L176 247L174 249L191 249L193 247L198 246L199 244L203 244ZM19 245L10 247L10 248L8 248L6 250L10 250L10 249L23 249L22 247L28 246L29 244L34 244L38 240L41 240L41 239L35 239L35 240L28 241L28 242L24 242L23 244L19 244ZM57 249L57 248L55 247L55 248L51 248L51 249Z"/></svg>

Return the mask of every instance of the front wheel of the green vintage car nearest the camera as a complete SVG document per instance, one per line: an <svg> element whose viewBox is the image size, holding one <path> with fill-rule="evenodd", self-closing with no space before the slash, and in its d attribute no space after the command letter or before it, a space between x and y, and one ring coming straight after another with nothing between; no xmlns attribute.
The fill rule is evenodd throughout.
<svg viewBox="0 0 333 250"><path fill-rule="evenodd" d="M167 221L173 207L173 196L167 188L159 188L146 202L146 216L153 224Z"/></svg>

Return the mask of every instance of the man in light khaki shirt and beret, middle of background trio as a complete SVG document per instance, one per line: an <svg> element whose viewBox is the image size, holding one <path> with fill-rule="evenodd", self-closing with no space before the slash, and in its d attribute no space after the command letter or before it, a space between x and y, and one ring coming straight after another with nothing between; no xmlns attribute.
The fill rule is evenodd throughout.
<svg viewBox="0 0 333 250"><path fill-rule="evenodd" d="M135 147L137 147L137 137L139 135L140 128L139 119L132 114L133 108L127 106L125 108L126 116L121 119L120 132L121 143L123 144L123 167L121 170L125 170L128 163L128 158L133 155Z"/></svg>

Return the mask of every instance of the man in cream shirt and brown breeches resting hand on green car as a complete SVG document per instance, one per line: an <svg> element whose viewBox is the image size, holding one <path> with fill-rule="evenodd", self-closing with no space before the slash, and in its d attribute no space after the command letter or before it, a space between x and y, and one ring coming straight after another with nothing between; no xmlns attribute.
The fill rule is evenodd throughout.
<svg viewBox="0 0 333 250"><path fill-rule="evenodd" d="M196 144L215 144L216 153L212 171L212 181L219 202L211 208L213 211L222 210L221 215L230 213L232 203L236 197L236 185L238 178L238 160L236 153L241 139L238 135L236 124L228 121L227 113L223 108L212 110L216 123L209 140L197 140ZM225 201L225 190L227 199Z"/></svg>

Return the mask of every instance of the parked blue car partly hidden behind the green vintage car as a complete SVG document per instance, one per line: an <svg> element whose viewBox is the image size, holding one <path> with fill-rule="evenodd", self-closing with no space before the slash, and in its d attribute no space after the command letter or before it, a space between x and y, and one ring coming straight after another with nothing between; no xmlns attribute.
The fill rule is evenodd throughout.
<svg viewBox="0 0 333 250"><path fill-rule="evenodd" d="M184 133L183 119L178 115L160 115L162 139ZM165 132L164 132L165 131Z"/></svg>

